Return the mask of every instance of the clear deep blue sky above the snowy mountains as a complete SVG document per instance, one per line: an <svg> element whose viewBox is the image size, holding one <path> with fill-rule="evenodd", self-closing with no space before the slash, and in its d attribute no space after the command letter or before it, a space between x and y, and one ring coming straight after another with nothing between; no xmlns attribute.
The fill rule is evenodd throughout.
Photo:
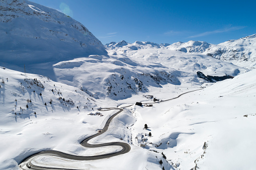
<svg viewBox="0 0 256 170"><path fill-rule="evenodd" d="M219 44L256 34L256 1L31 0L62 11L103 44L122 40Z"/></svg>

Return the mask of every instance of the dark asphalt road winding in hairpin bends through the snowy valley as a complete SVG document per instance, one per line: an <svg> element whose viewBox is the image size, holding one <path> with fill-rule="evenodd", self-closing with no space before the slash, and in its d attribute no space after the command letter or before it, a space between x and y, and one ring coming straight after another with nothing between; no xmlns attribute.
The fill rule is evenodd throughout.
<svg viewBox="0 0 256 170"><path fill-rule="evenodd" d="M198 90L202 90L202 89L198 89ZM161 100L161 101L158 101L158 102L153 102L153 103L160 103L160 102L164 102L164 101L169 101L169 100L173 100L173 99L177 99L179 98L180 96L184 95L184 94L187 94L187 93L190 93L190 92L194 92L194 91L197 91L197 90L193 90L193 91L189 91L189 92L186 92L186 93L183 93L183 94L180 94L179 96L175 97L175 98L172 98L172 99L167 99L167 100ZM143 104L152 104L152 103L143 103ZM125 107L130 107L132 106L133 104L131 105L128 105L128 106L125 106ZM80 144L84 147L102 147L102 146L121 146L122 147L122 150L120 151L117 151L117 152L112 152L112 153L106 153L106 154L100 154L100 155L95 155L95 156L77 156L77 155L72 155L72 154L68 154L68 153L64 153L64 152L61 152L61 151L56 151L56 150L44 150L44 151L40 151L38 153L34 153L26 158L24 158L21 163L19 164L19 167L21 169L24 169L24 170L27 170L27 169L36 169L36 170L42 170L42 169L67 169L67 168L57 168L57 167L43 167L43 166L37 166L37 165L34 165L32 164L31 160L33 160L35 157L37 156L42 156L42 155L45 155L45 156L58 156L58 157L62 157L62 158L67 158L67 159L72 159L72 160L96 160L96 159L103 159L103 158L108 158L108 157L112 157L112 156L117 156L117 155L120 155L120 154L124 154L124 153L127 153L130 151L131 147L129 144L127 143L124 143L124 142L108 142L108 143L102 143L102 144L89 144L88 141L91 140L92 138L96 137L96 136L99 136L101 135L102 133L106 132L109 128L109 124L110 122L112 121L112 119L117 116L119 113L121 113L125 108L125 107L121 107L121 108L100 108L98 109L99 111L108 111L108 110L119 110L118 112L116 112L115 114L113 114L106 122L104 128L92 135L92 136L89 136L85 139L83 139ZM68 168L70 169L70 168ZM72 170L76 170L76 169L72 169Z"/></svg>

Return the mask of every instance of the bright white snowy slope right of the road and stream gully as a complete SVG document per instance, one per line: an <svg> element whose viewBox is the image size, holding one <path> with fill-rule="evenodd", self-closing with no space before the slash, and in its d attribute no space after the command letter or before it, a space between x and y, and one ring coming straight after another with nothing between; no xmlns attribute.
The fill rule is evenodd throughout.
<svg viewBox="0 0 256 170"><path fill-rule="evenodd" d="M177 169L254 169L255 74L252 70L205 85L203 90L153 107L133 107L134 144L145 140L145 149L163 152ZM188 91L178 88L178 94ZM178 96L167 86L147 94L162 100ZM143 129L144 124L148 129Z"/></svg>

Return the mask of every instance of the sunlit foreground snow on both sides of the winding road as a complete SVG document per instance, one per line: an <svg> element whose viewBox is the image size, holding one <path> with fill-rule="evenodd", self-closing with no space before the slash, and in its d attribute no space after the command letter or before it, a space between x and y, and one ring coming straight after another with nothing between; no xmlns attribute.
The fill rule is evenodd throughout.
<svg viewBox="0 0 256 170"><path fill-rule="evenodd" d="M102 112L104 116L89 113L95 113L97 107L124 106L135 101L153 103L147 95L165 100L196 89L202 90L153 103L152 107L127 108L113 120L106 134L91 141L124 140L131 145L131 151L124 155L73 162L51 156L38 157L33 163L79 169L161 169L162 166L165 169L251 169L255 150L255 138L251 135L255 131L255 75L252 70L210 87L209 83L203 84L204 89L196 84L191 87L190 82L165 84L160 89L150 86L144 97L139 94L114 102L94 99L78 88L47 77L32 74L26 77L21 72L0 68L0 101L4 106L0 111L0 137L4 139L0 141L3 153L0 169L18 169L24 157L43 149L78 155L119 150L118 147L89 149L80 146L79 141L101 129L113 111ZM144 124L148 129L143 129ZM151 137L148 137L149 132ZM146 146L140 147L140 141ZM116 164L117 161L120 163Z"/></svg>

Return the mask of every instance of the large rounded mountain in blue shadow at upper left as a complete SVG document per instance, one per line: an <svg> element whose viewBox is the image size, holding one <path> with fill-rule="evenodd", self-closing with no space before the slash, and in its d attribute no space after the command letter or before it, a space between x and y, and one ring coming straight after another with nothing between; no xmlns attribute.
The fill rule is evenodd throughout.
<svg viewBox="0 0 256 170"><path fill-rule="evenodd" d="M27 71L54 79L54 73L47 75L54 63L107 54L86 27L57 10L27 0L2 0L0 16L2 66L22 71L25 64Z"/></svg>

